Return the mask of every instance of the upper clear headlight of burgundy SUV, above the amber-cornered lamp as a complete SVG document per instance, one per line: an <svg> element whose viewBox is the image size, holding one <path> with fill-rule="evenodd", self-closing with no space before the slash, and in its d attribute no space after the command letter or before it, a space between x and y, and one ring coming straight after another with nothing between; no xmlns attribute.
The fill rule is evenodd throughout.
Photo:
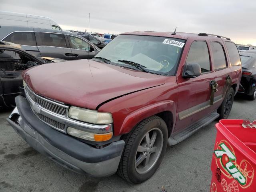
<svg viewBox="0 0 256 192"><path fill-rule="evenodd" d="M102 113L95 110L84 109L71 106L68 110L68 116L72 119L93 123L110 124L113 122L111 113Z"/></svg>

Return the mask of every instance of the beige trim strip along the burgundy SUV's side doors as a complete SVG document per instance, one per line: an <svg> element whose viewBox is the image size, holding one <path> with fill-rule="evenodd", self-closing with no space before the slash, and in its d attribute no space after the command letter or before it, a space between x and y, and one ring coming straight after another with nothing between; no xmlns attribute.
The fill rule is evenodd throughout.
<svg viewBox="0 0 256 192"><path fill-rule="evenodd" d="M223 95L221 94L219 96L214 97L213 104L221 101L222 100L222 96ZM187 117L189 117L191 115L194 115L194 114L196 114L196 113L198 113L198 112L200 112L200 111L202 111L202 110L204 110L204 109L206 109L208 107L210 107L210 100L208 100L206 102L203 102L201 104L198 104L198 105L196 105L194 107L188 108L188 109L186 109L184 111L179 112L178 113L179 119L183 120L183 119L185 119L185 118L187 118Z"/></svg>

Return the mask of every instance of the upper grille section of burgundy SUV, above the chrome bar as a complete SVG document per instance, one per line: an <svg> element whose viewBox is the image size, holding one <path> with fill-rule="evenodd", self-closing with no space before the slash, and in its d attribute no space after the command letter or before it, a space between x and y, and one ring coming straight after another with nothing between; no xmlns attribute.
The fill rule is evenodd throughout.
<svg viewBox="0 0 256 192"><path fill-rule="evenodd" d="M42 99L38 95L34 94L29 88L26 88L26 92L27 92L28 96L30 96L30 98L34 102L40 104L40 106L42 106L43 108L45 108L45 109L47 109L51 112L54 112L56 114L60 114L60 115L65 115L66 114L66 108L65 107Z"/></svg>

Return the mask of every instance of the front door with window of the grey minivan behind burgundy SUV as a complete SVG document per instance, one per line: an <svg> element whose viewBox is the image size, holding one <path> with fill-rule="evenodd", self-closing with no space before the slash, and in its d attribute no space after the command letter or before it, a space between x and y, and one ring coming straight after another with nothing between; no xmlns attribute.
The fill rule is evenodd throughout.
<svg viewBox="0 0 256 192"><path fill-rule="evenodd" d="M91 59L98 53L98 50L86 40L72 35L67 36L72 52L72 59Z"/></svg>

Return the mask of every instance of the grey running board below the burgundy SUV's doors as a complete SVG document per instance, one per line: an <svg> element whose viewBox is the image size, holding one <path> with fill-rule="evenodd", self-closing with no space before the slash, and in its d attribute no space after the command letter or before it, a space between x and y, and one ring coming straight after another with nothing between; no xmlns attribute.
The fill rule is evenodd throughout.
<svg viewBox="0 0 256 192"><path fill-rule="evenodd" d="M188 126L184 130L170 136L170 138L168 139L168 145L175 145L175 144L183 141L184 139L186 139L189 136L191 136L192 134L194 134L198 129L210 124L212 121L214 121L219 116L220 115L217 113L217 111L214 111L214 112L208 114L206 117L204 117L201 120L195 122L194 124Z"/></svg>

